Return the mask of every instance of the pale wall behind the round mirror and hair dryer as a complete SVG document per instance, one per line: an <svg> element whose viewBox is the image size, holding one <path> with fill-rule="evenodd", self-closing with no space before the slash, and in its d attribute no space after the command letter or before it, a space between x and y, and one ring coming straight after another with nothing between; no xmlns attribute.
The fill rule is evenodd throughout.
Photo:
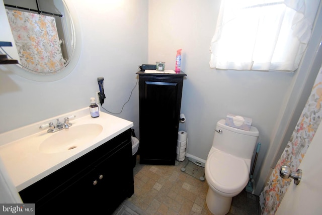
<svg viewBox="0 0 322 215"><path fill-rule="evenodd" d="M120 112L130 96L137 67L147 61L147 1L68 2L82 32L82 53L75 69L61 80L43 83L0 65L0 133L90 105L90 97L99 91L100 76L105 78L107 110ZM0 10L4 10L2 0ZM0 26L4 25L8 23L0 17ZM4 37L0 34L0 41ZM138 130L138 108L136 87L123 113L116 116L134 122Z"/></svg>

